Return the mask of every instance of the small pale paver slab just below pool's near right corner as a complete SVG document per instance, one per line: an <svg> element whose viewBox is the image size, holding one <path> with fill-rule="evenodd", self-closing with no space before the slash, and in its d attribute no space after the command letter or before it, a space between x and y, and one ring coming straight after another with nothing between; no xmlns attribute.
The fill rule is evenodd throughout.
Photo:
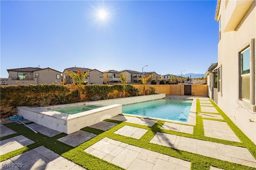
<svg viewBox="0 0 256 170"><path fill-rule="evenodd" d="M189 133L189 134L193 134L193 129L194 129L194 127L192 126L180 125L180 124L170 123L170 122L165 122L161 128L166 130L174 130L177 132Z"/></svg>

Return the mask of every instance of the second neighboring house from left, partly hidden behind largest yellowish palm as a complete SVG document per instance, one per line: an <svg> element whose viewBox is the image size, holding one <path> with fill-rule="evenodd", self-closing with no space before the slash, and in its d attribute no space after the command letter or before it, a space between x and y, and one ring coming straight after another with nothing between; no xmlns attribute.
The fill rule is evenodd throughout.
<svg viewBox="0 0 256 170"><path fill-rule="evenodd" d="M73 79L67 74L69 71L73 71L74 73L77 73L78 70L81 69L82 72L89 71L85 81L87 84L103 84L103 73L101 71L98 71L97 69L88 69L88 68L80 68L80 67L70 67L66 68L63 71L63 84L70 84L73 83Z"/></svg>

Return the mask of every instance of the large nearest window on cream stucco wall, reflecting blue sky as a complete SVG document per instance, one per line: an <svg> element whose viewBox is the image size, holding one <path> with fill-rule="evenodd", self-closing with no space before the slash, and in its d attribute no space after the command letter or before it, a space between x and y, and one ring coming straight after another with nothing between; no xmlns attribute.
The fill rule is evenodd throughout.
<svg viewBox="0 0 256 170"><path fill-rule="evenodd" d="M241 52L241 98L250 101L250 47Z"/></svg>

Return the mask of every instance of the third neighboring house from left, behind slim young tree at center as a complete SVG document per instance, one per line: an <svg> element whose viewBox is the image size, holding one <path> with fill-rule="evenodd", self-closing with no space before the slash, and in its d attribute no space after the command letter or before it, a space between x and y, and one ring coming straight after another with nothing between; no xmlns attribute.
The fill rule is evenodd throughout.
<svg viewBox="0 0 256 170"><path fill-rule="evenodd" d="M120 74L123 73L124 75L128 75L127 83L131 83L131 73L128 70L116 71L116 70L108 70L103 71L103 82L105 84L112 84L112 83L119 83L120 81Z"/></svg>

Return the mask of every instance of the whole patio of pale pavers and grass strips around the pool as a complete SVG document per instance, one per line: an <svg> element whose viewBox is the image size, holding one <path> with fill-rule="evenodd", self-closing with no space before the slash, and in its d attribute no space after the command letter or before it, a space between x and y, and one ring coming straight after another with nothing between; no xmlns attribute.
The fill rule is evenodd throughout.
<svg viewBox="0 0 256 170"><path fill-rule="evenodd" d="M69 135L30 122L38 134L17 123L1 125L1 169L256 168L255 144L210 99L195 98L196 125L126 115Z"/></svg>

